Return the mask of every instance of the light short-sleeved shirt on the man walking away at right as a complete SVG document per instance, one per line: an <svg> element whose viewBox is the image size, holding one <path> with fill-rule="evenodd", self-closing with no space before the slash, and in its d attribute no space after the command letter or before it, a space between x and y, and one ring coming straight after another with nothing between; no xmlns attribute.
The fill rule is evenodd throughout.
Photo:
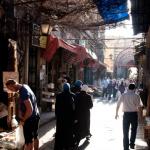
<svg viewBox="0 0 150 150"><path fill-rule="evenodd" d="M117 105L123 104L123 112L137 112L138 107L142 106L142 101L139 95L135 94L133 90L128 90L122 94Z"/></svg>

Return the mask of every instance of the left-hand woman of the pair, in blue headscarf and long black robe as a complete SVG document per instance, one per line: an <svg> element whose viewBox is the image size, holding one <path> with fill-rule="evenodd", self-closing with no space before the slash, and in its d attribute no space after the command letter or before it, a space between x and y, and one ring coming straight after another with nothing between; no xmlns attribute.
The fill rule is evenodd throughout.
<svg viewBox="0 0 150 150"><path fill-rule="evenodd" d="M74 146L74 97L70 84L63 85L63 92L56 96L56 134L54 150L70 150Z"/></svg>

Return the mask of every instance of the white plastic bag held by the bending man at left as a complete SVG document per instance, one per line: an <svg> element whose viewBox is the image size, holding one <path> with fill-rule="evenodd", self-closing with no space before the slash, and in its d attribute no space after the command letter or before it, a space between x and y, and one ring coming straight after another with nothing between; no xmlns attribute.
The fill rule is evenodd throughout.
<svg viewBox="0 0 150 150"><path fill-rule="evenodd" d="M19 125L16 128L16 146L18 149L21 149L25 144L24 134L23 134L23 126Z"/></svg>

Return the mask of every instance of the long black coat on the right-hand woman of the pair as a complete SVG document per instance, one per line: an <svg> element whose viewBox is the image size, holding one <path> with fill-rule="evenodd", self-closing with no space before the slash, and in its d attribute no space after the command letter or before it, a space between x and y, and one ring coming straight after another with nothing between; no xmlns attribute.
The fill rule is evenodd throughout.
<svg viewBox="0 0 150 150"><path fill-rule="evenodd" d="M82 139L90 134L90 109L93 107L91 95L81 91L75 99L76 136Z"/></svg>

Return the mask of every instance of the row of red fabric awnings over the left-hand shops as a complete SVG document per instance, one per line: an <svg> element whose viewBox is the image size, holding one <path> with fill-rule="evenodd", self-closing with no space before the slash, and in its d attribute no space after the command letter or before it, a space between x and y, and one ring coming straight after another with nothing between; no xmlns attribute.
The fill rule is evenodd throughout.
<svg viewBox="0 0 150 150"><path fill-rule="evenodd" d="M71 45L66 43L64 40L57 38L54 35L49 35L47 38L47 47L43 51L42 57L45 58L46 61L50 61L54 54L56 53L58 48L63 48L67 51L63 51L63 58L69 63L75 64L78 62L82 62L85 59L90 60L90 66L104 66L103 63L97 62L97 59L93 58L92 55L89 54L88 50L81 45Z"/></svg>

